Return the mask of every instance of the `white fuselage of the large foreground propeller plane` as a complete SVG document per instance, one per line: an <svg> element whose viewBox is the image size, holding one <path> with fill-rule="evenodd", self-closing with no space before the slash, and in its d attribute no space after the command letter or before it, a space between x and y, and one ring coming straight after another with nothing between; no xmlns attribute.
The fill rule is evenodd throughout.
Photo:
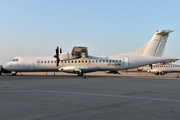
<svg viewBox="0 0 180 120"><path fill-rule="evenodd" d="M83 73L107 70L123 70L138 66L163 62L170 58L145 57L136 55L116 56L88 56L74 60L61 60L56 66L56 59L49 57L15 57L11 62L3 66L5 70L15 72L45 72L62 71L74 73L81 70Z"/></svg>

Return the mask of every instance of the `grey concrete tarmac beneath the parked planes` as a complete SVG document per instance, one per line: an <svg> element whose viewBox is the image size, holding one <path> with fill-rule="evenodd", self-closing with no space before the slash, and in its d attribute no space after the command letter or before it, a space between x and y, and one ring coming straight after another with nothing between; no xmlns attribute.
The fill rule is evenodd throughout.
<svg viewBox="0 0 180 120"><path fill-rule="evenodd" d="M0 106L0 120L180 120L180 78L2 75Z"/></svg>

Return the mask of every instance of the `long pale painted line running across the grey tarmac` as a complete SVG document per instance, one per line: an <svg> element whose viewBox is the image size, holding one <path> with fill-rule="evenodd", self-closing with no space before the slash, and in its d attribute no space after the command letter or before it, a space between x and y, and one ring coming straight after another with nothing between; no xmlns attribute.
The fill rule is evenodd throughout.
<svg viewBox="0 0 180 120"><path fill-rule="evenodd" d="M0 93L10 93L10 92L50 92L50 93L61 93L61 94L71 94L71 95L114 97L114 98L129 98L129 99L155 100L155 101L177 102L177 103L180 103L180 100L172 100L172 99L164 99L164 98L136 97L136 96L111 95L111 94L96 94L96 93L83 93L83 92L68 92L68 91L53 91L53 90L7 90L7 91L0 91Z"/></svg>

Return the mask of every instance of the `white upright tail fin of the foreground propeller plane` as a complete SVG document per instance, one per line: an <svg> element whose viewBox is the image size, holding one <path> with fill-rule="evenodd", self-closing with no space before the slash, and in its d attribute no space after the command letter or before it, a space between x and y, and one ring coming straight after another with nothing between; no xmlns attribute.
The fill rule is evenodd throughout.
<svg viewBox="0 0 180 120"><path fill-rule="evenodd" d="M133 54L133 55L142 55L142 56L162 56L164 52L164 48L166 46L166 42L169 36L169 33L173 32L172 30L158 30L151 40L145 44L140 49L125 53L125 54Z"/></svg>

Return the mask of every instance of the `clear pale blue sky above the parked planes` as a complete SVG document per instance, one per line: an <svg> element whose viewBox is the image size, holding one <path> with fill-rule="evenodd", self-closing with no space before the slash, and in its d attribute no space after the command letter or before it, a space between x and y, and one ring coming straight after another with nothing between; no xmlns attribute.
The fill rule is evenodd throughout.
<svg viewBox="0 0 180 120"><path fill-rule="evenodd" d="M91 55L136 50L158 29L174 30L164 56L180 58L180 1L0 0L0 64L87 46Z"/></svg>

